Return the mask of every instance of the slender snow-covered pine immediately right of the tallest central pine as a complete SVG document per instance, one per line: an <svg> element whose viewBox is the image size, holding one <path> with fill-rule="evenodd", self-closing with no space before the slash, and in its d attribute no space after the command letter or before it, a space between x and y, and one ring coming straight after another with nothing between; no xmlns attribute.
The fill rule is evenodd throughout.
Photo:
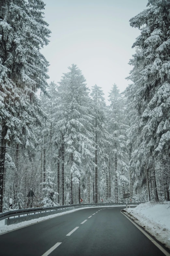
<svg viewBox="0 0 170 256"><path fill-rule="evenodd" d="M106 130L106 103L101 87L96 84L92 86L92 109L94 115L94 142L95 142L95 203L98 203L98 169L101 168L101 175L108 170L108 155L106 147L109 145L109 134Z"/></svg>

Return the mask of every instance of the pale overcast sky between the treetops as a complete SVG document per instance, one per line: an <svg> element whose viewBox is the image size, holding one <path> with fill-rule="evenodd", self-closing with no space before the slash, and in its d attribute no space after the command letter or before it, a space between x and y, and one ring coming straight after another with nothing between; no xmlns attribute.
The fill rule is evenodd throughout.
<svg viewBox="0 0 170 256"><path fill-rule="evenodd" d="M67 67L77 64L87 86L101 86L106 95L116 83L122 92L140 34L129 20L146 9L147 0L44 0L50 43L42 53L50 62L50 81L59 82Z"/></svg>

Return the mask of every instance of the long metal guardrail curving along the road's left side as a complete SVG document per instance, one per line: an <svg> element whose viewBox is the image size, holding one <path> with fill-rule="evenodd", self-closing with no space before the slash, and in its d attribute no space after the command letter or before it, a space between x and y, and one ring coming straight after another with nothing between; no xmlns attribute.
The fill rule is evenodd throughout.
<svg viewBox="0 0 170 256"><path fill-rule="evenodd" d="M131 205L139 205L140 203L131 203ZM51 214L62 213L76 208L95 207L95 206L126 206L126 203L99 203L99 204L72 204L72 205L59 205L54 207L39 207L28 208L21 210L14 210L5 213L0 213L0 220L5 219L5 224L10 225L19 223L25 220L31 220Z"/></svg>

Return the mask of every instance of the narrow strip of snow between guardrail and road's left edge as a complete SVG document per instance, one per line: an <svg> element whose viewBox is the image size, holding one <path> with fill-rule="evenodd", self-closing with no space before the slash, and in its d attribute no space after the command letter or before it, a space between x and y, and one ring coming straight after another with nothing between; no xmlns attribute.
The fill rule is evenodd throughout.
<svg viewBox="0 0 170 256"><path fill-rule="evenodd" d="M61 216L61 215L64 215L64 214L67 214L67 213L73 213L73 212L76 212L76 211L79 211L79 210L83 210L83 209L89 209L89 208L101 208L102 206L94 206L94 207L82 207L82 208L79 208L79 209L74 209L74 210L70 210L70 211L66 211L66 212L63 212L63 213L56 213L56 214L51 214L49 216L45 216L45 217L40 217L40 218L37 218L37 219L32 219L32 220L27 220L27 221L23 221L21 223L15 223L15 224L11 224L9 226L5 225L5 220L1 220L0 221L0 234L2 233L6 233L8 231L11 231L11 230L15 230L15 229L20 229L22 227L25 227L25 226L29 226L29 225L32 225L32 224L35 224L37 222L40 222L40 221L44 221L44 220L48 220L48 219L51 219L51 218L54 218L54 217L58 217L58 216ZM106 207L121 207L121 205L116 205L116 206L103 206L103 208L106 208ZM123 207L123 206L122 206Z"/></svg>

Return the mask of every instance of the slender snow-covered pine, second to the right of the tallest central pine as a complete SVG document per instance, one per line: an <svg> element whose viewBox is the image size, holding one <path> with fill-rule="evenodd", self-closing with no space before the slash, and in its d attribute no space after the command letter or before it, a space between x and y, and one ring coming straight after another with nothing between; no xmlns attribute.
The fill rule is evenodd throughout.
<svg viewBox="0 0 170 256"><path fill-rule="evenodd" d="M126 151L126 129L128 126L124 118L124 102L116 84L113 85L109 93L109 122L108 130L111 135L112 152L115 162L115 202L118 203L118 177L123 188L129 183L127 151ZM122 195L120 197L122 198Z"/></svg>

